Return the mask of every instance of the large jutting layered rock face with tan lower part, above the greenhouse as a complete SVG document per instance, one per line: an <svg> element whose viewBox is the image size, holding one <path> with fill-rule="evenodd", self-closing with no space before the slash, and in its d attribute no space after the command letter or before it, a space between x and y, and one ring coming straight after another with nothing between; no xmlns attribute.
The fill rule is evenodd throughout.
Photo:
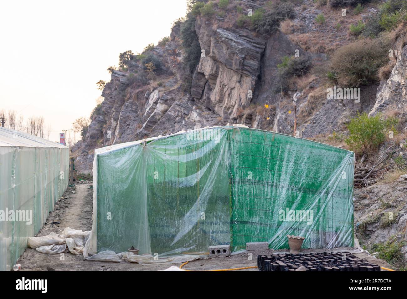
<svg viewBox="0 0 407 299"><path fill-rule="evenodd" d="M238 109L251 103L266 41L247 29L213 29L204 18L198 18L196 31L203 52L191 95L223 120L236 119Z"/></svg>

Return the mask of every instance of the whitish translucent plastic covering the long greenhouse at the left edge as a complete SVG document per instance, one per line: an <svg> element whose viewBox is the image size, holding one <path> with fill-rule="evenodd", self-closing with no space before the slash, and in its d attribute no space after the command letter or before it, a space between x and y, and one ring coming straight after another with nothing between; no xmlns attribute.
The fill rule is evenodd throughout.
<svg viewBox="0 0 407 299"><path fill-rule="evenodd" d="M68 186L68 168L68 147L0 127L1 271L10 270L54 210Z"/></svg>

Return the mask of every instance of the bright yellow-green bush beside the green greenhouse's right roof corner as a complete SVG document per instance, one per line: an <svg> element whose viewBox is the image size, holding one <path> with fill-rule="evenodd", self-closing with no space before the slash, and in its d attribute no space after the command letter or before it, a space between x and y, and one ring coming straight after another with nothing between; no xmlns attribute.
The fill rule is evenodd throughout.
<svg viewBox="0 0 407 299"><path fill-rule="evenodd" d="M385 142L387 130L394 129L397 124L397 118L383 119L381 113L370 117L365 112L359 113L347 125L350 135L345 142L355 153L372 153Z"/></svg>

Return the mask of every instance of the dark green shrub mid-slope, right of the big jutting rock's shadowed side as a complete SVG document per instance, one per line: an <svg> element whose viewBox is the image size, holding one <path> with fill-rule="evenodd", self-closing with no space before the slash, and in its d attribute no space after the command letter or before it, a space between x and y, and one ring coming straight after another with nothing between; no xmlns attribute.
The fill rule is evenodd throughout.
<svg viewBox="0 0 407 299"><path fill-rule="evenodd" d="M289 80L293 76L304 76L311 68L311 65L312 61L308 56L282 57L281 63L277 65L278 71L273 92L287 92L289 90Z"/></svg>

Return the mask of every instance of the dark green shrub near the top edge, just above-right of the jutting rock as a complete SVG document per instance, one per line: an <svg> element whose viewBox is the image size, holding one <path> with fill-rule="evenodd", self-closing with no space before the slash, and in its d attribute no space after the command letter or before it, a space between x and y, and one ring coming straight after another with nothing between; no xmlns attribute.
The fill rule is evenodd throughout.
<svg viewBox="0 0 407 299"><path fill-rule="evenodd" d="M279 2L270 11L256 9L252 16L254 30L261 34L272 33L279 25L280 21L295 18L295 12L291 3Z"/></svg>

